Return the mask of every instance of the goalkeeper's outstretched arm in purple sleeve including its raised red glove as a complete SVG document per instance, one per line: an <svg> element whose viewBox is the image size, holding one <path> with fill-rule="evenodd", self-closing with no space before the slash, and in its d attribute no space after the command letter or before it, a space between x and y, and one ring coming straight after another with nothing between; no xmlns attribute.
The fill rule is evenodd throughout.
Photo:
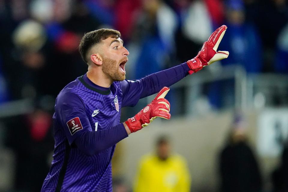
<svg viewBox="0 0 288 192"><path fill-rule="evenodd" d="M217 51L226 29L227 27L223 25L214 31L193 59L142 79L120 82L123 92L122 107L135 106L139 99L157 93L163 86L169 87L188 74L196 73L206 65L227 58L228 51Z"/></svg>

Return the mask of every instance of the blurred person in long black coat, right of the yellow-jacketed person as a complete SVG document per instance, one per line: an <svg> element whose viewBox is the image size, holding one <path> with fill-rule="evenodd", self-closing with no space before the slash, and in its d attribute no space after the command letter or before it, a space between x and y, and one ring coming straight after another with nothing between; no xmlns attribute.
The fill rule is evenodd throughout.
<svg viewBox="0 0 288 192"><path fill-rule="evenodd" d="M262 181L241 116L236 115L228 142L220 153L221 192L260 192Z"/></svg>

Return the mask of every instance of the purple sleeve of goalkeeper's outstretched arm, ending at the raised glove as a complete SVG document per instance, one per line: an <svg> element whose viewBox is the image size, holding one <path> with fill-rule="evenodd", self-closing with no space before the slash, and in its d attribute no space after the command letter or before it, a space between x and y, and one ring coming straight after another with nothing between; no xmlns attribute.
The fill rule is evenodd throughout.
<svg viewBox="0 0 288 192"><path fill-rule="evenodd" d="M135 106L139 99L153 95L164 86L171 86L188 75L187 63L145 76L142 79L120 82L123 93L122 107Z"/></svg>

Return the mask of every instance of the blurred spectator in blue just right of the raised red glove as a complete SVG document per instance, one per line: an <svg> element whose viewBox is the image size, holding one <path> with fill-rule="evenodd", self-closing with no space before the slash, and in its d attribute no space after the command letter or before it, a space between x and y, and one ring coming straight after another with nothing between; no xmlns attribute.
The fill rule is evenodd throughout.
<svg viewBox="0 0 288 192"><path fill-rule="evenodd" d="M245 19L242 0L227 0L226 25L228 30L219 50L229 50L229 59L222 60L221 63L241 64L248 73L261 72L261 40L252 23Z"/></svg>

